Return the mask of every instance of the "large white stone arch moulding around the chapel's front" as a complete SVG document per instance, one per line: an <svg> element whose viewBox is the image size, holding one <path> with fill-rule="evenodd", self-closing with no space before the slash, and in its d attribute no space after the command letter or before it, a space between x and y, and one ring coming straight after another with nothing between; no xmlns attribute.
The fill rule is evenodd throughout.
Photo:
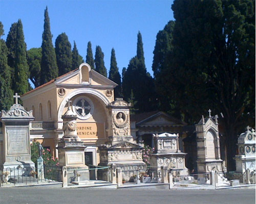
<svg viewBox="0 0 256 204"><path fill-rule="evenodd" d="M100 101L102 101L105 105L108 105L110 103L110 101L100 92L91 89L91 88L81 88L81 89L77 89L75 91L72 91L71 93L69 93L65 98L63 98L63 100L61 101L60 105L59 105L59 109L58 109L58 121L62 121L61 119L61 115L63 113L63 110L67 104L67 100L72 98L75 95L78 94L83 94L83 93L88 93L91 95L96 96L97 98L100 99Z"/></svg>

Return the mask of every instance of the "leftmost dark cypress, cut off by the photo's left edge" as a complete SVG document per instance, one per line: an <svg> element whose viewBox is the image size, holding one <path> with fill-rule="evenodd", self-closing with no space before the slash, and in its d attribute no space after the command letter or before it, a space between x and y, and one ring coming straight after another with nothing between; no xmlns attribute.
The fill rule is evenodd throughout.
<svg viewBox="0 0 256 204"><path fill-rule="evenodd" d="M0 21L0 37L4 35L3 24ZM0 110L9 110L13 104L11 89L11 67L8 66L8 48L0 39Z"/></svg>

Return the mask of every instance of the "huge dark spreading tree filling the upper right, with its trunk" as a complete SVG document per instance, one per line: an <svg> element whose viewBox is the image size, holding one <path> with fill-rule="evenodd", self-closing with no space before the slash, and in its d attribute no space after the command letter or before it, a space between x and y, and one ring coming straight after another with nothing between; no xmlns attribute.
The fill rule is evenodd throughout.
<svg viewBox="0 0 256 204"><path fill-rule="evenodd" d="M187 123L209 108L222 113L230 171L239 129L255 125L255 2L174 1L172 9L175 25L160 32L154 53L159 92Z"/></svg>

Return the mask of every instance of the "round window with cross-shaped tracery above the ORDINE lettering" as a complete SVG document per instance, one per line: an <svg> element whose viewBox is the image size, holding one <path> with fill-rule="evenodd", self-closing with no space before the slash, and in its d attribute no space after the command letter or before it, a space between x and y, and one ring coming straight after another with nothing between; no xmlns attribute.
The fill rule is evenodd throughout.
<svg viewBox="0 0 256 204"><path fill-rule="evenodd" d="M90 98L79 96L74 100L72 109L79 119L86 120L93 115L94 105Z"/></svg>

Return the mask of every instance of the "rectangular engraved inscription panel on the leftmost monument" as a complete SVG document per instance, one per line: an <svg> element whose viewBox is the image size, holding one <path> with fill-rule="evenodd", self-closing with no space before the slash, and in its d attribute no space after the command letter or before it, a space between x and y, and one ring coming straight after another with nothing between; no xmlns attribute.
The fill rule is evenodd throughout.
<svg viewBox="0 0 256 204"><path fill-rule="evenodd" d="M7 129L7 154L29 154L28 130L27 129Z"/></svg>

